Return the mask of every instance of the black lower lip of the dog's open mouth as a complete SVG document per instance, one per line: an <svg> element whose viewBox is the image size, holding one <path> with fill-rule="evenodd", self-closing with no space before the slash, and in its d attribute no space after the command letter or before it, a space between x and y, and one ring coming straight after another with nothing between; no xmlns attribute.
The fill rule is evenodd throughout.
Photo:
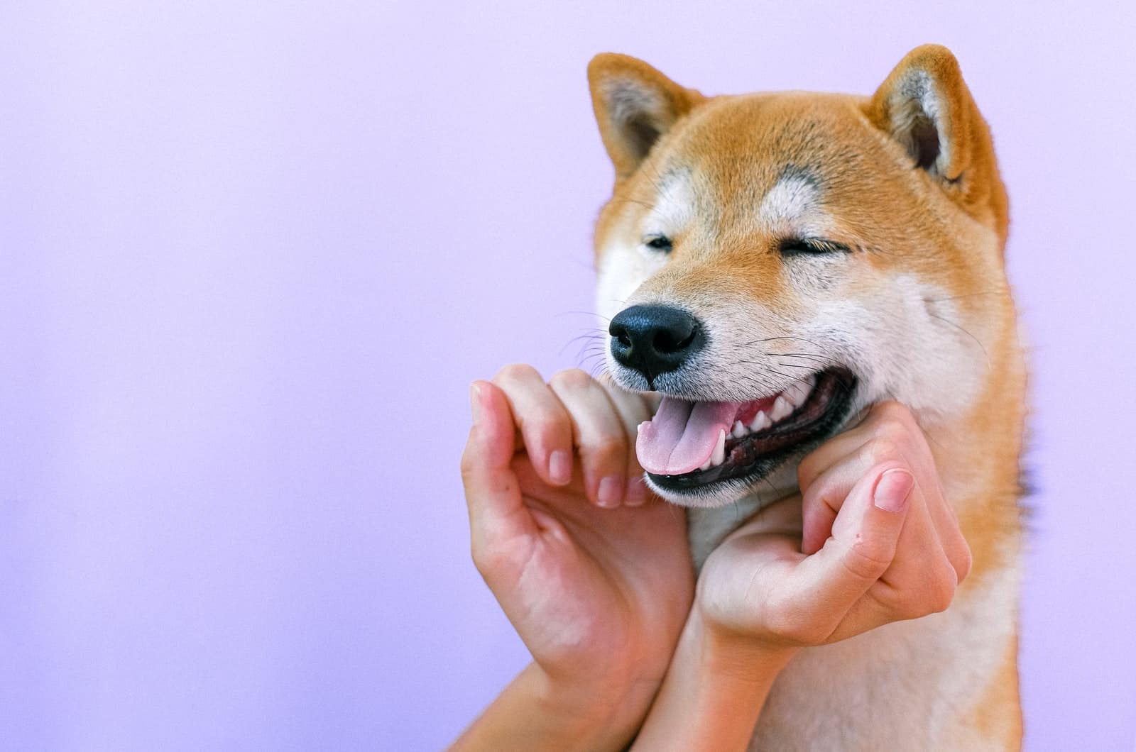
<svg viewBox="0 0 1136 752"><path fill-rule="evenodd" d="M744 438L727 440L724 463L684 475L648 473L648 477L663 491L676 493L703 491L722 481L760 481L788 458L811 451L832 436L852 409L855 385L855 376L845 368L822 370L808 402L788 420Z"/></svg>

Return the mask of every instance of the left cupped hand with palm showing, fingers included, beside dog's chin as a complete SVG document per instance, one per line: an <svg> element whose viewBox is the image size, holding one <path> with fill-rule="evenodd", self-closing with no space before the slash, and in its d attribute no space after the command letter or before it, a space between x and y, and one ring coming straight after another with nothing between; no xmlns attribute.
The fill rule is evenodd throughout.
<svg viewBox="0 0 1136 752"><path fill-rule="evenodd" d="M694 592L685 515L635 460L643 398L509 366L471 402L461 474L478 571L552 683L642 718Z"/></svg>

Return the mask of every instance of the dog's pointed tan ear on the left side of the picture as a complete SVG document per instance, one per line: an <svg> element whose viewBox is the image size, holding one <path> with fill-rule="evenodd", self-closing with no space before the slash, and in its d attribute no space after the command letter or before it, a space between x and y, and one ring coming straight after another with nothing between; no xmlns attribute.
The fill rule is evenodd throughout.
<svg viewBox="0 0 1136 752"><path fill-rule="evenodd" d="M659 136L704 99L646 62L612 52L592 58L587 81L617 181L630 176Z"/></svg>

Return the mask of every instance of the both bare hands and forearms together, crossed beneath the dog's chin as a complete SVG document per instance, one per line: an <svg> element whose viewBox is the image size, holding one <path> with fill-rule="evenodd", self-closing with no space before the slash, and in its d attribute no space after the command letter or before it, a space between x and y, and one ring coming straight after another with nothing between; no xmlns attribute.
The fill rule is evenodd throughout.
<svg viewBox="0 0 1136 752"><path fill-rule="evenodd" d="M635 483L643 398L510 366L471 402L474 561L533 662L454 749L745 749L796 651L941 611L969 570L897 403L808 456L801 494L729 535L695 595L684 515Z"/></svg>

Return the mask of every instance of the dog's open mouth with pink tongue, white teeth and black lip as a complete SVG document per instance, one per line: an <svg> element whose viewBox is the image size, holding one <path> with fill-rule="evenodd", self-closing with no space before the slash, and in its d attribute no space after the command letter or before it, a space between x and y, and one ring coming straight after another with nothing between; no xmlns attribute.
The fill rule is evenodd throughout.
<svg viewBox="0 0 1136 752"><path fill-rule="evenodd" d="M665 491L759 481L835 433L854 390L851 371L830 368L750 402L665 395L654 418L640 425L635 451L648 476Z"/></svg>

